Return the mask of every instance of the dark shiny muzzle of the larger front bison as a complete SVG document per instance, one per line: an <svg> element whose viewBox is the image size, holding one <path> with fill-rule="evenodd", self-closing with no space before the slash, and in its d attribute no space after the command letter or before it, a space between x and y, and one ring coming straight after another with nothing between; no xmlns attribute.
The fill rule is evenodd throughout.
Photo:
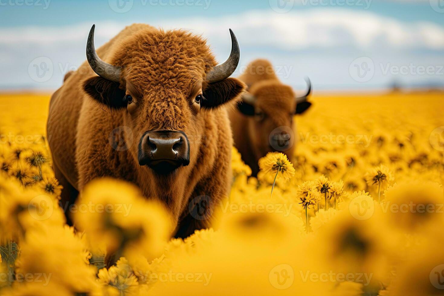
<svg viewBox="0 0 444 296"><path fill-rule="evenodd" d="M139 164L158 173L169 173L190 163L190 148L185 133L171 130L146 132L140 139Z"/></svg>

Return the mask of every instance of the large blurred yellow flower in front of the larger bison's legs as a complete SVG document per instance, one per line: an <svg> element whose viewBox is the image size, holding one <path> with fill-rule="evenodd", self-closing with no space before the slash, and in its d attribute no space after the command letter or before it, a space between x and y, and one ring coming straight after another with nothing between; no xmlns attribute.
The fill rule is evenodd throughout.
<svg viewBox="0 0 444 296"><path fill-rule="evenodd" d="M120 257L161 254L173 229L166 209L147 200L135 185L111 178L85 186L76 202L75 225L85 231L93 253Z"/></svg>

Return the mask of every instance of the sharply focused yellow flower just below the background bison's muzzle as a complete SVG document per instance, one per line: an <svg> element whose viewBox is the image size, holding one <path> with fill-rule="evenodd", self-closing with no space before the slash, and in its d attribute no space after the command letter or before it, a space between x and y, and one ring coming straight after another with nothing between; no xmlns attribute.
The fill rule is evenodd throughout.
<svg viewBox="0 0 444 296"><path fill-rule="evenodd" d="M259 168L264 173L281 173L279 176L289 180L294 176L293 164L287 156L280 152L269 152L265 157L259 159Z"/></svg>

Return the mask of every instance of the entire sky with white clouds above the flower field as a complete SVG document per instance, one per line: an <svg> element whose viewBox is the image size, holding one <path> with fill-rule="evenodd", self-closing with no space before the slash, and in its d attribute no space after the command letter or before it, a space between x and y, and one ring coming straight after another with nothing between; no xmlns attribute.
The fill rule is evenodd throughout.
<svg viewBox="0 0 444 296"><path fill-rule="evenodd" d="M270 59L297 89L305 75L322 90L444 84L444 0L0 0L0 90L59 87L91 24L99 46L134 22L192 29L219 60L233 28L239 71Z"/></svg>

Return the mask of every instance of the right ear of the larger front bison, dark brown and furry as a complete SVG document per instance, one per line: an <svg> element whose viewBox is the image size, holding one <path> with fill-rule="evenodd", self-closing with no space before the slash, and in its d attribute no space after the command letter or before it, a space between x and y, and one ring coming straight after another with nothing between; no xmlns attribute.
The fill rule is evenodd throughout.
<svg viewBox="0 0 444 296"><path fill-rule="evenodd" d="M237 99L245 89L246 85L236 78L227 78L216 83L210 83L203 91L205 100L201 102L201 106L206 109L222 106L233 99Z"/></svg>

